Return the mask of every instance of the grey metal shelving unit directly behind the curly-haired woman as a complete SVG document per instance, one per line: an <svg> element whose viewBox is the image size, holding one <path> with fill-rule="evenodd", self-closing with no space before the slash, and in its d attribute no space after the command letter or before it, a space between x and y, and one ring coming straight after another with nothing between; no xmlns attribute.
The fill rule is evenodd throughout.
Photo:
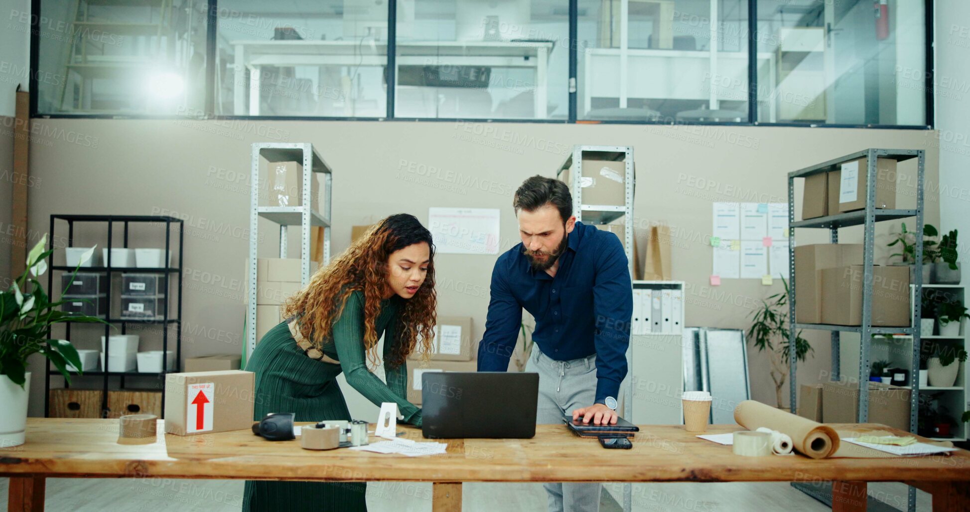
<svg viewBox="0 0 970 512"><path fill-rule="evenodd" d="M269 162L298 161L303 165L302 195L300 206L260 206L260 159ZM279 224L279 257L286 257L287 230L291 225L300 226L301 285L309 283L310 228L324 227L323 264L330 262L331 200L333 172L320 154L309 143L255 143L252 145L251 194L249 199L249 302L246 307L246 359L256 349L256 269L258 267L259 219ZM317 212L311 199L312 173L322 173L323 183L319 190L323 198L323 211Z"/></svg>

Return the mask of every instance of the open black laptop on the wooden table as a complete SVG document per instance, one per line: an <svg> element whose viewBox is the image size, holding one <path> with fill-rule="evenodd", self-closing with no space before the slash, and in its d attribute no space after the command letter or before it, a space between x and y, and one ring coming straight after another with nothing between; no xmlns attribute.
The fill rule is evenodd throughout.
<svg viewBox="0 0 970 512"><path fill-rule="evenodd" d="M529 439L538 373L423 372L421 431L438 439Z"/></svg>

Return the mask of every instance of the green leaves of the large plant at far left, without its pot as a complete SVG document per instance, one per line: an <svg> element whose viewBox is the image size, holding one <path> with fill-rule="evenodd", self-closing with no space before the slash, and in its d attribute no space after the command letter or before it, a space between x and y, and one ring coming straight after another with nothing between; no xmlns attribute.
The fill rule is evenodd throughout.
<svg viewBox="0 0 970 512"><path fill-rule="evenodd" d="M78 351L67 340L48 339L50 327L63 322L101 323L105 321L84 315L73 315L60 311L59 306L66 301L50 302L44 288L37 278L48 270L47 257L51 251L44 251L47 235L27 256L27 268L11 285L10 290L0 293L0 375L6 375L21 388L26 381L27 358L43 354L57 367L70 384L71 375L68 364L81 368ZM94 248L81 257L81 262L94 253ZM71 274L71 282L78 273L81 263Z"/></svg>

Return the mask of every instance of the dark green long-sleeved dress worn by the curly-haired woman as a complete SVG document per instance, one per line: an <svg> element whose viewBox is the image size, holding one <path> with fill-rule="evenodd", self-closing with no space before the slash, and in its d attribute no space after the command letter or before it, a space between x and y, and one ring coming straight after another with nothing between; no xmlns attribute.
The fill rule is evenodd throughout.
<svg viewBox="0 0 970 512"><path fill-rule="evenodd" d="M394 348L394 320L404 298L394 295L381 301L375 327L384 335L384 361ZM364 293L354 291L334 323L323 353L339 364L311 359L297 346L289 326L282 322L256 345L246 370L256 373L253 420L275 413L296 413L298 422L350 420L350 412L337 383L342 371L347 384L374 404L396 402L404 422L421 426L421 409L406 400L407 367L384 369L387 384L367 367L364 350ZM270 441L267 441L270 442ZM246 481L242 510L367 510L366 483Z"/></svg>

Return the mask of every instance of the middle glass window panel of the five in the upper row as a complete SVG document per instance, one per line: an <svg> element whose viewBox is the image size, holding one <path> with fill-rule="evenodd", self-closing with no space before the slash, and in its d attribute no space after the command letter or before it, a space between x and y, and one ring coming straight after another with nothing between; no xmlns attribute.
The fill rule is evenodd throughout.
<svg viewBox="0 0 970 512"><path fill-rule="evenodd" d="M399 118L566 119L565 0L398 0Z"/></svg>

